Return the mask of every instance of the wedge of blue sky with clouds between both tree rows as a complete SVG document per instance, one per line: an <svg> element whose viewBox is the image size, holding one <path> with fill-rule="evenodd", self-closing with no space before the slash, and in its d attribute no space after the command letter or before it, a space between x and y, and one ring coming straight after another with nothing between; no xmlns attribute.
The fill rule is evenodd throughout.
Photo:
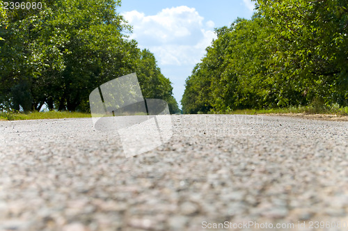
<svg viewBox="0 0 348 231"><path fill-rule="evenodd" d="M253 6L251 0L122 0L118 12L133 26L130 38L155 54L181 108L185 80L216 38L214 28L250 19Z"/></svg>

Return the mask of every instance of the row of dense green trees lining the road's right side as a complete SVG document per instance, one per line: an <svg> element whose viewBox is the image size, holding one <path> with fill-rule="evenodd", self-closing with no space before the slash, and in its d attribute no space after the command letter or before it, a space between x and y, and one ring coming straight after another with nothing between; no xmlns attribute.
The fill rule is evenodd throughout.
<svg viewBox="0 0 348 231"><path fill-rule="evenodd" d="M250 20L216 34L186 81L184 113L348 106L347 0L258 0Z"/></svg>

